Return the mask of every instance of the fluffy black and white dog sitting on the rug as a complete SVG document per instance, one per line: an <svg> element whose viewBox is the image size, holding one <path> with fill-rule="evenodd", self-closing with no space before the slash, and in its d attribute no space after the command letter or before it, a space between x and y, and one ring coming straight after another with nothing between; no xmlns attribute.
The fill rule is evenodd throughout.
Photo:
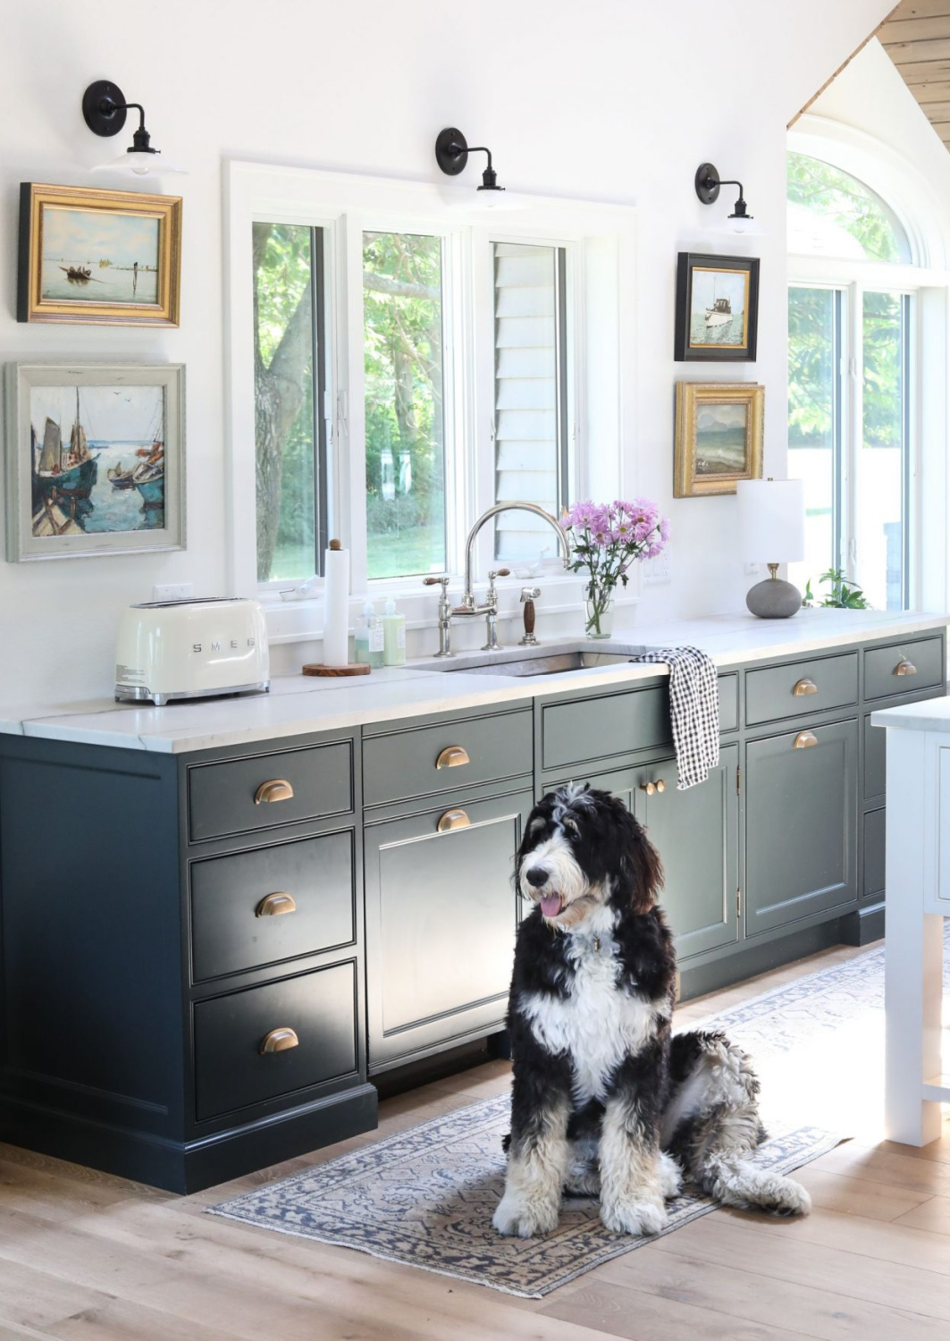
<svg viewBox="0 0 950 1341"><path fill-rule="evenodd" d="M610 1230L657 1234L682 1177L730 1206L805 1215L792 1179L748 1155L758 1080L720 1033L673 1035L677 960L659 856L626 806L569 786L535 806L517 854L521 923L508 1011L505 1193L493 1223L529 1238L564 1191L600 1196Z"/></svg>

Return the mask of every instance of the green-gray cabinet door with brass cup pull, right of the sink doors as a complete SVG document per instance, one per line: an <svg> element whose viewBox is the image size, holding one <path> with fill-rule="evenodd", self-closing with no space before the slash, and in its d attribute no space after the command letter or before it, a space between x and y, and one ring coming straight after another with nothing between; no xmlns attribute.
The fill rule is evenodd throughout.
<svg viewBox="0 0 950 1341"><path fill-rule="evenodd" d="M745 932L754 936L858 896L858 723L745 748Z"/></svg>

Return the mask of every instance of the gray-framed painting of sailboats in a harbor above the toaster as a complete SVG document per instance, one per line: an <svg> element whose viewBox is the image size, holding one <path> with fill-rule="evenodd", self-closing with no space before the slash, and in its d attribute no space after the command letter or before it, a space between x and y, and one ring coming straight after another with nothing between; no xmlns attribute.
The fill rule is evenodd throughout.
<svg viewBox="0 0 950 1341"><path fill-rule="evenodd" d="M7 365L7 558L185 548L185 367Z"/></svg>

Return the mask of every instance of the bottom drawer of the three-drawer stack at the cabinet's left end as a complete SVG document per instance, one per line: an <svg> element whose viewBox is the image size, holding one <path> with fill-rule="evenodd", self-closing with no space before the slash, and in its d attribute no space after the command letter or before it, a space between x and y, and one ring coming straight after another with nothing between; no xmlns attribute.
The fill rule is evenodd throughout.
<svg viewBox="0 0 950 1341"><path fill-rule="evenodd" d="M275 1030L296 1046L263 1053ZM198 1121L356 1070L356 966L229 992L194 1007Z"/></svg>

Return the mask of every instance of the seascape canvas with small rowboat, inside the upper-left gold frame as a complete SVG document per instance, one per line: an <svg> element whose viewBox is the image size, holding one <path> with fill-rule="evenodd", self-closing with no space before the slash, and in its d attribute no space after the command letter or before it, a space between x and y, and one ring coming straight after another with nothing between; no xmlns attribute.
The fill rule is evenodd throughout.
<svg viewBox="0 0 950 1341"><path fill-rule="evenodd" d="M157 219L47 207L42 236L42 298L157 302Z"/></svg>

